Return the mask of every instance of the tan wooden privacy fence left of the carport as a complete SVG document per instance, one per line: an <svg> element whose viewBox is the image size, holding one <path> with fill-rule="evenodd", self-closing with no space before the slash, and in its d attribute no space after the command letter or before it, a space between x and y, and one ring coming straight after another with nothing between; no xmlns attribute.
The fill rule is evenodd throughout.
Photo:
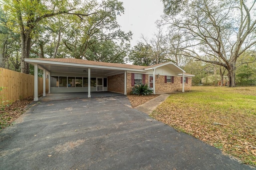
<svg viewBox="0 0 256 170"><path fill-rule="evenodd" d="M34 76L0 68L0 105L15 102L18 99L34 96ZM48 79L46 79L48 92ZM38 94L43 93L43 78L38 77Z"/></svg>

